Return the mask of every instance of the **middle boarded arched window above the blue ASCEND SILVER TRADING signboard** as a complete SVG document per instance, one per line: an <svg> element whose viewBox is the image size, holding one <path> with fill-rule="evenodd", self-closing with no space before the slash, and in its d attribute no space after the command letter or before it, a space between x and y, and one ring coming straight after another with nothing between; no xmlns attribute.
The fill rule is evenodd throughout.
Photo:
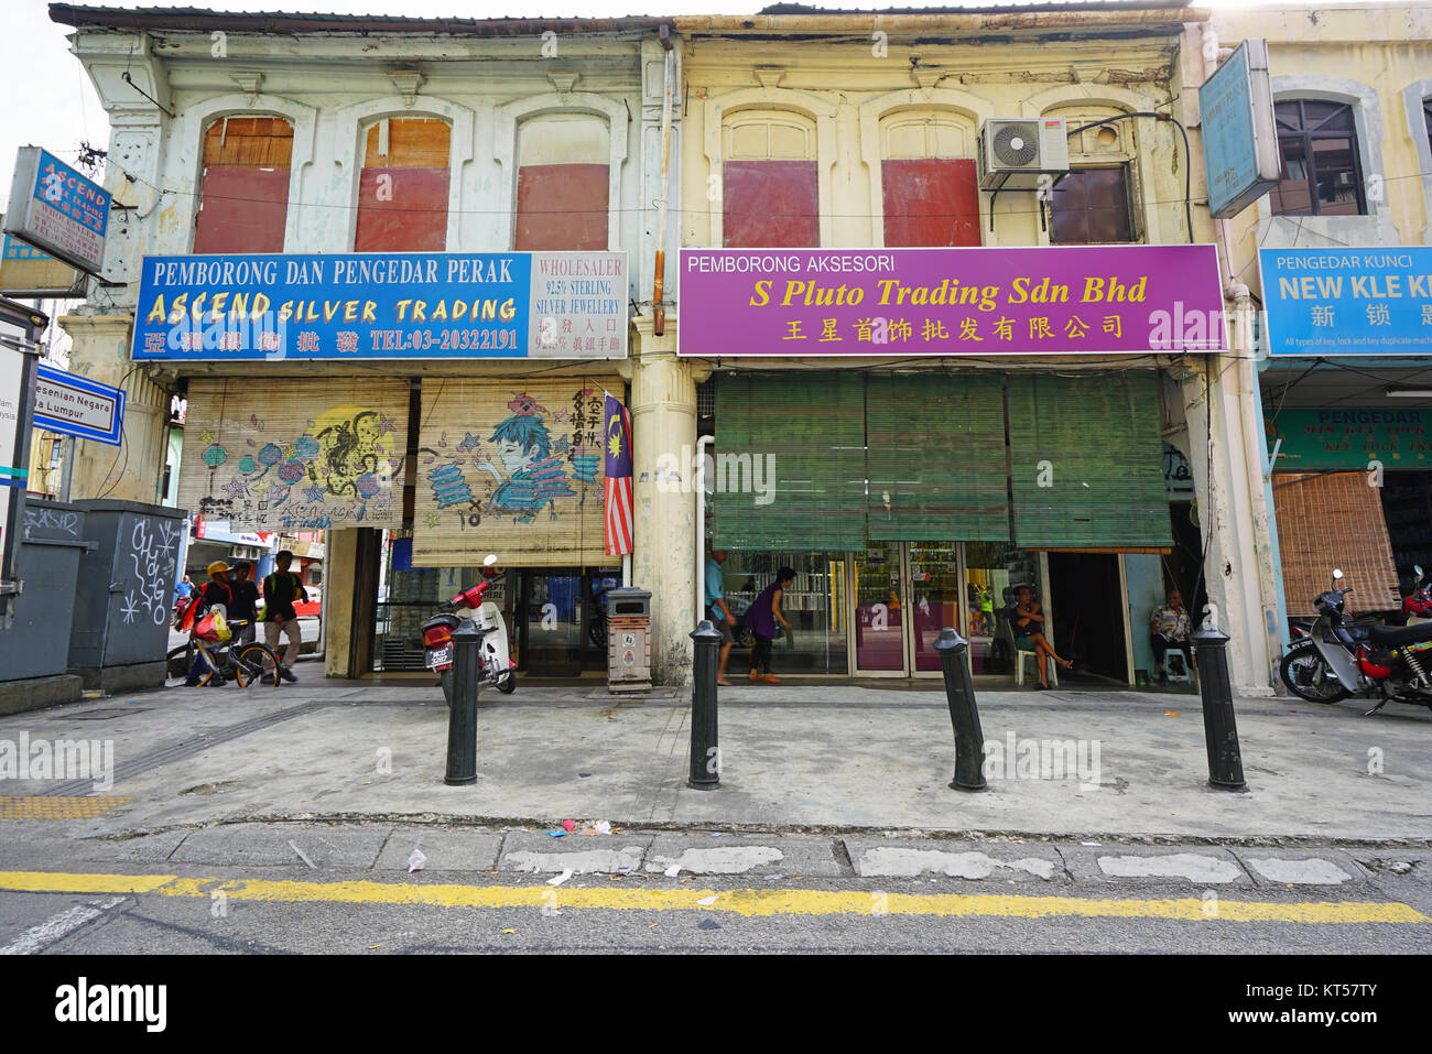
<svg viewBox="0 0 1432 1054"><path fill-rule="evenodd" d="M364 137L354 252L447 248L451 130L434 117L382 117Z"/></svg>

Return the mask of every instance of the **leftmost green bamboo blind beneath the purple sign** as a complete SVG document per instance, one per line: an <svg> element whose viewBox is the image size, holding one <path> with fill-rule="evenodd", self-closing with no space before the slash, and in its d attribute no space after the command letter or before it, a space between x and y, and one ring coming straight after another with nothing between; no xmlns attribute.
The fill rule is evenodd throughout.
<svg viewBox="0 0 1432 1054"><path fill-rule="evenodd" d="M865 378L716 382L713 547L865 548Z"/></svg>

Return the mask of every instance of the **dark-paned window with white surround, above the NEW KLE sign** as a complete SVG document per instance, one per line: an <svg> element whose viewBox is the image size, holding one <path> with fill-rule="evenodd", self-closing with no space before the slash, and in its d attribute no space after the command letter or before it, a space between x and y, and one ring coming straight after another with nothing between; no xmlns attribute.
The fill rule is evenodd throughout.
<svg viewBox="0 0 1432 1054"><path fill-rule="evenodd" d="M1289 99L1273 106L1283 179L1270 193L1274 216L1362 216L1368 202L1350 103Z"/></svg>

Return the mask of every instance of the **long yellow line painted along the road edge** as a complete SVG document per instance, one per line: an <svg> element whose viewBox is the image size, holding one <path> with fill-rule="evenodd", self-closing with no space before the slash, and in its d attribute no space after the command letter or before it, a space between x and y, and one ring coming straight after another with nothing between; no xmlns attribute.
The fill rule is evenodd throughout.
<svg viewBox="0 0 1432 1054"><path fill-rule="evenodd" d="M412 885L407 882L289 882L179 875L72 875L0 871L0 889L23 892L119 892L211 896L285 904L425 904L440 908L597 908L606 911L725 911L736 915L939 915L992 918L1166 918L1189 922L1432 922L1393 901L1219 899L1211 911L1194 896L1177 899L1085 899L1010 894L872 894L841 889L637 889ZM710 905L699 901L715 896Z"/></svg>

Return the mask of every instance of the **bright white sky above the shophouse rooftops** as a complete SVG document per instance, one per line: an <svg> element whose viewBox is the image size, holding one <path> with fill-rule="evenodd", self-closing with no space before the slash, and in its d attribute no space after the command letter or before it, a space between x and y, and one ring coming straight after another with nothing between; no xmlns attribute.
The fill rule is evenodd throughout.
<svg viewBox="0 0 1432 1054"><path fill-rule="evenodd" d="M1005 0L1018 3L1018 0ZM1253 6L1249 0L1210 0L1199 7ZM629 14L749 14L766 6L766 0L216 0L205 4L126 4L95 3L95 7L209 7L223 11L263 11L289 9L294 11L322 11L334 14L395 14L414 17L465 19L538 19L538 17L620 17ZM861 4L828 3L823 7L861 10ZM904 6L892 1L865 4L871 7ZM945 4L952 7L957 4ZM984 4L969 4L984 6ZM1130 4L1137 7L1138 4ZM1303 6L1303 4L1299 4ZM1317 4L1332 7L1335 4ZM109 143L109 122L99 105L95 89L80 63L69 53L69 26L50 21L44 0L0 0L4 13L4 33L0 34L0 69L7 74L9 90L0 97L0 188L10 186L16 149L29 143L44 146L64 160L73 160L80 142L105 148Z"/></svg>

